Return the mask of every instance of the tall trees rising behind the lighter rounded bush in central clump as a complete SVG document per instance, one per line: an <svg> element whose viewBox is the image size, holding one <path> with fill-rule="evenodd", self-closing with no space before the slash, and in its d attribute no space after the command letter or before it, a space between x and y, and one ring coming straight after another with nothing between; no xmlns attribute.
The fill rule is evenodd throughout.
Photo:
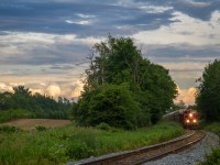
<svg viewBox="0 0 220 165"><path fill-rule="evenodd" d="M95 107L90 108L90 106L91 102L94 105L99 102L95 99L97 98L95 96L99 96L100 92L103 98L108 96L108 92L100 90L107 85L112 85L114 90L120 88L121 85L127 85L129 92L124 92L124 95L131 94L130 98L132 99L130 100L133 100L131 102L138 102L141 109L141 117L139 116L139 108L136 110L132 109L134 118L139 118L135 127L156 123L162 114L173 105L173 99L176 97L177 91L168 70L143 58L141 51L130 37L116 38L109 35L107 42L94 45L88 59L90 65L86 69L87 77L84 92L79 98L78 106L76 105L74 108L75 118L78 123L87 123L86 121L88 120L92 121L91 118L95 118L92 117L92 112L96 112L97 118L98 114L101 116L101 111L97 113ZM120 99L113 99L113 97L110 97L110 100L114 105L121 103ZM100 102L103 100L100 99ZM105 103L105 101L100 102L99 105ZM127 109L125 106L122 103L122 109ZM100 109L99 106L96 108ZM106 107L102 111L107 109ZM108 111L110 110L108 109ZM129 111L125 112L129 113ZM119 114L125 116L125 113ZM123 117L119 118L119 120L127 119ZM98 123L96 122L96 124Z"/></svg>

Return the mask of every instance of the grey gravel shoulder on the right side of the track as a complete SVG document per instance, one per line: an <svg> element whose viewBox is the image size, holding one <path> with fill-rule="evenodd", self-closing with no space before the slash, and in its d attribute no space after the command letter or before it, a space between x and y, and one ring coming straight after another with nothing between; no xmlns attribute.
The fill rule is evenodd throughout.
<svg viewBox="0 0 220 165"><path fill-rule="evenodd" d="M165 156L157 161L144 163L143 165L195 165L205 161L204 157L211 148L218 146L219 136L207 132L207 135L196 145L177 154Z"/></svg>

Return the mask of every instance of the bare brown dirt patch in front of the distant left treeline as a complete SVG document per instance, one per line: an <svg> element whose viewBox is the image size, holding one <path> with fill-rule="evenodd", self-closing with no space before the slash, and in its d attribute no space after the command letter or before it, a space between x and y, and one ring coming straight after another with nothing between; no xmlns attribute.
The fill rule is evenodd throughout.
<svg viewBox="0 0 220 165"><path fill-rule="evenodd" d="M36 124L44 125L46 128L57 128L70 124L70 120L54 120L54 119L19 119L0 125L14 125L23 130L31 130Z"/></svg>

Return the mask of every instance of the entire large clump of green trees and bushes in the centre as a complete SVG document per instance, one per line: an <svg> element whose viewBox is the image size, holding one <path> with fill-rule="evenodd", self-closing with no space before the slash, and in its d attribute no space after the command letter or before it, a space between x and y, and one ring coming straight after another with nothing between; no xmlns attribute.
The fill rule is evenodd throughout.
<svg viewBox="0 0 220 165"><path fill-rule="evenodd" d="M72 111L78 124L135 129L156 123L173 106L177 89L168 70L144 58L130 37L109 35L94 45L88 62Z"/></svg>

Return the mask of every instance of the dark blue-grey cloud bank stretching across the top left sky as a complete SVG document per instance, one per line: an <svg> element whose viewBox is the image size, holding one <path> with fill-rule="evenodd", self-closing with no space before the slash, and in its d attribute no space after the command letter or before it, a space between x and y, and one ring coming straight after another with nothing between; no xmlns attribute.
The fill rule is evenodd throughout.
<svg viewBox="0 0 220 165"><path fill-rule="evenodd" d="M16 8L22 6L23 8ZM173 7L152 6L135 1L6 1L0 6L0 31L103 36L131 34L140 29L158 28L169 23ZM132 14L131 14L132 13ZM130 31L116 26L130 25ZM139 26L139 28L138 28ZM85 33L86 32L86 33Z"/></svg>

